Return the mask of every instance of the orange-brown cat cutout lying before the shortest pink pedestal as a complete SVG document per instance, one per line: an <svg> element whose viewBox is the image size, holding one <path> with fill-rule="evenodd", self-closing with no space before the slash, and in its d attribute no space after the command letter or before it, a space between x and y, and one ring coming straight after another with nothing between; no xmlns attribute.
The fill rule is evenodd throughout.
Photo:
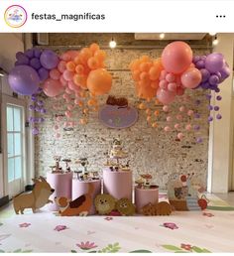
<svg viewBox="0 0 234 256"><path fill-rule="evenodd" d="M141 213L147 216L170 215L172 213L172 206L167 201L150 202L142 207Z"/></svg>

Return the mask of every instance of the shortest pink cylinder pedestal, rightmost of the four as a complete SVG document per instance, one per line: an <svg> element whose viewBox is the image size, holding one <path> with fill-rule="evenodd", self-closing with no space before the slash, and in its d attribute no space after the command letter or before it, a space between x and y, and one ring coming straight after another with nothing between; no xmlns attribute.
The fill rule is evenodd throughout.
<svg viewBox="0 0 234 256"><path fill-rule="evenodd" d="M141 208L150 202L159 202L159 188L145 190L135 187L135 204L137 212L141 213Z"/></svg>

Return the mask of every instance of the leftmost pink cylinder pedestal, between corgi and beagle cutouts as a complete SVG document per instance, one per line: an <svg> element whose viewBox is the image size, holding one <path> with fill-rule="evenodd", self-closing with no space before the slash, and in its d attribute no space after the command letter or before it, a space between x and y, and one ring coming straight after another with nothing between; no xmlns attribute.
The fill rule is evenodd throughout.
<svg viewBox="0 0 234 256"><path fill-rule="evenodd" d="M71 181L72 181L73 173L65 173L65 174L52 174L47 173L47 182L51 185L51 187L55 190L55 192L50 196L50 199L54 201L55 197L64 196L67 198L71 198ZM50 210L58 210L58 205L56 202L49 203L48 208Z"/></svg>

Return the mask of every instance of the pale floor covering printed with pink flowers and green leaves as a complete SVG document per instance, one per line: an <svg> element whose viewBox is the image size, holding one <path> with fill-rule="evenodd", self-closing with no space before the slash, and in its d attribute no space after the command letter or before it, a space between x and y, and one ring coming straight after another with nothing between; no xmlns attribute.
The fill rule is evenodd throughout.
<svg viewBox="0 0 234 256"><path fill-rule="evenodd" d="M234 252L234 211L171 216L0 216L0 252Z"/></svg>

